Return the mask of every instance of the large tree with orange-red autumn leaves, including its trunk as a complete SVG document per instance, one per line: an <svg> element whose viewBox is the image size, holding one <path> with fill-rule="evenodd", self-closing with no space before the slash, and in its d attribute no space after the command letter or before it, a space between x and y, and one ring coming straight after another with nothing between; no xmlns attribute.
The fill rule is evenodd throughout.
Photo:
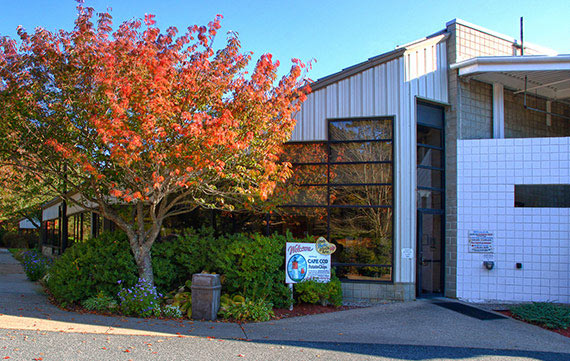
<svg viewBox="0 0 570 361"><path fill-rule="evenodd" d="M0 162L113 221L152 281L165 218L258 202L290 176L279 154L306 67L294 59L277 81L279 62L264 54L248 74L236 34L212 47L219 15L179 34L152 15L113 31L109 13L78 11L73 31L2 38Z"/></svg>

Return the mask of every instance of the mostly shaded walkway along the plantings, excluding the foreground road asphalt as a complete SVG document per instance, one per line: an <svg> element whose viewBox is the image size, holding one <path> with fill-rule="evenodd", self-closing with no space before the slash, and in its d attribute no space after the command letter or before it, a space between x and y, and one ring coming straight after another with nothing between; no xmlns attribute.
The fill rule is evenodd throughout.
<svg viewBox="0 0 570 361"><path fill-rule="evenodd" d="M439 300L441 301L441 300ZM450 301L451 300L446 300ZM0 249L0 329L105 335L201 336L332 347L407 345L542 352L570 359L570 339L509 318L479 320L434 300L392 303L272 322L233 324L78 314L51 305L41 287ZM320 346L319 346L320 345ZM557 356L557 357L558 357Z"/></svg>

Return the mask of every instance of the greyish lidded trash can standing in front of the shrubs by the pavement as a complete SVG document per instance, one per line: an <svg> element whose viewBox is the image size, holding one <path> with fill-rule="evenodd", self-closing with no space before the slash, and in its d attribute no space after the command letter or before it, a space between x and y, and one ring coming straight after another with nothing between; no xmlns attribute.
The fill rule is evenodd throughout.
<svg viewBox="0 0 570 361"><path fill-rule="evenodd" d="M215 320L220 309L222 285L220 275L196 273L192 275L192 318Z"/></svg>

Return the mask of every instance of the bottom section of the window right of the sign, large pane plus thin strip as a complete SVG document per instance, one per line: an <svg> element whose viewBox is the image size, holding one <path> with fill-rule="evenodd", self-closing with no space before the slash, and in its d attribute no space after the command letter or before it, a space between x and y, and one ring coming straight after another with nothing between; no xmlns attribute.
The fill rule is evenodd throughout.
<svg viewBox="0 0 570 361"><path fill-rule="evenodd" d="M335 263L392 264L392 210L333 208L330 237L337 245ZM339 266L341 278L391 280L390 267Z"/></svg>

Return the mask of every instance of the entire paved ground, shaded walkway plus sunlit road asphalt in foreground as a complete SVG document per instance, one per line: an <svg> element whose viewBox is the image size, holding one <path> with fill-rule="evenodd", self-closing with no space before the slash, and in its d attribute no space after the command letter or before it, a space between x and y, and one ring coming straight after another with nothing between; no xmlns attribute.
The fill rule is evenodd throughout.
<svg viewBox="0 0 570 361"><path fill-rule="evenodd" d="M424 299L263 323L79 314L0 249L0 360L570 360L570 338ZM6 358L8 357L8 358Z"/></svg>

